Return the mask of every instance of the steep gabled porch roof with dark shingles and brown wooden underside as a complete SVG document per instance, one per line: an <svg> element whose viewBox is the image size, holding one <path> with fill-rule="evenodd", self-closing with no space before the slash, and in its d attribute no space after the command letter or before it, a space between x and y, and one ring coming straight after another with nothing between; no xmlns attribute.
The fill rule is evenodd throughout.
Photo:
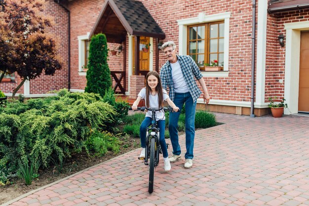
<svg viewBox="0 0 309 206"><path fill-rule="evenodd" d="M122 42L126 33L164 39L165 34L141 1L106 0L90 33L104 33L109 42Z"/></svg>

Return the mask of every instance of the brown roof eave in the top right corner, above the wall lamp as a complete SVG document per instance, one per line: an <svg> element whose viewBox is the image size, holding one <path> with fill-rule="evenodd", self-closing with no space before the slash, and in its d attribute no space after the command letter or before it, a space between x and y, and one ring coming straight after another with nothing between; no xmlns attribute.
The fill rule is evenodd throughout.
<svg viewBox="0 0 309 206"><path fill-rule="evenodd" d="M268 12L283 12L309 8L308 0L270 0Z"/></svg>

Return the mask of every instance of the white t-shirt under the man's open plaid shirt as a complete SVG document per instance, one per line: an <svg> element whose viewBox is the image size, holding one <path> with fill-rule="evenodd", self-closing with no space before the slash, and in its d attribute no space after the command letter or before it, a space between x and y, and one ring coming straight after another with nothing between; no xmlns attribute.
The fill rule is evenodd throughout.
<svg viewBox="0 0 309 206"><path fill-rule="evenodd" d="M181 72L179 61L176 63L170 63L172 67L172 78L175 92L177 93L186 93L189 92L189 88L185 82L183 73Z"/></svg>

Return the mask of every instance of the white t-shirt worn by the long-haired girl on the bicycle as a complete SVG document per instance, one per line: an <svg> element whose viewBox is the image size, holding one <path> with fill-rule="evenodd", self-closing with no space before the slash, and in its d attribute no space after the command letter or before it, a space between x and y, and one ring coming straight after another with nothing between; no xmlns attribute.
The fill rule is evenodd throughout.
<svg viewBox="0 0 309 206"><path fill-rule="evenodd" d="M145 105L146 105L146 88L142 88L138 96L142 97L142 99L145 99ZM163 89L163 101L166 101L166 99L169 98L167 92L165 89ZM159 107L159 98L158 94L155 93L155 95L149 94L149 107ZM163 111L157 111L156 113L156 121L159 120L165 120L165 115ZM152 117L152 111L147 111L146 117Z"/></svg>

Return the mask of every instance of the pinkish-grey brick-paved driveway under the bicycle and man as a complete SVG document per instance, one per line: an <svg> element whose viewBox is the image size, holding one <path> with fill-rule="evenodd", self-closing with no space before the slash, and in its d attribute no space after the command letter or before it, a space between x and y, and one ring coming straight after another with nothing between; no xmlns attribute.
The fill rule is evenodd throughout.
<svg viewBox="0 0 309 206"><path fill-rule="evenodd" d="M216 115L226 124L196 132L193 167L165 172L161 161L152 194L135 150L4 205L309 205L308 117Z"/></svg>

